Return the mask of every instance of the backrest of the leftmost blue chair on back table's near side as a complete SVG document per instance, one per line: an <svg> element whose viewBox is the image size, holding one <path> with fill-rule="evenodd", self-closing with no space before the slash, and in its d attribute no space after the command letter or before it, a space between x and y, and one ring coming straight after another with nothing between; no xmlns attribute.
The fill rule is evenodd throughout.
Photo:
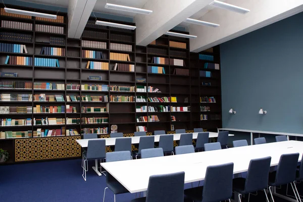
<svg viewBox="0 0 303 202"><path fill-rule="evenodd" d="M87 160L105 158L105 139L91 139L87 143Z"/></svg>

